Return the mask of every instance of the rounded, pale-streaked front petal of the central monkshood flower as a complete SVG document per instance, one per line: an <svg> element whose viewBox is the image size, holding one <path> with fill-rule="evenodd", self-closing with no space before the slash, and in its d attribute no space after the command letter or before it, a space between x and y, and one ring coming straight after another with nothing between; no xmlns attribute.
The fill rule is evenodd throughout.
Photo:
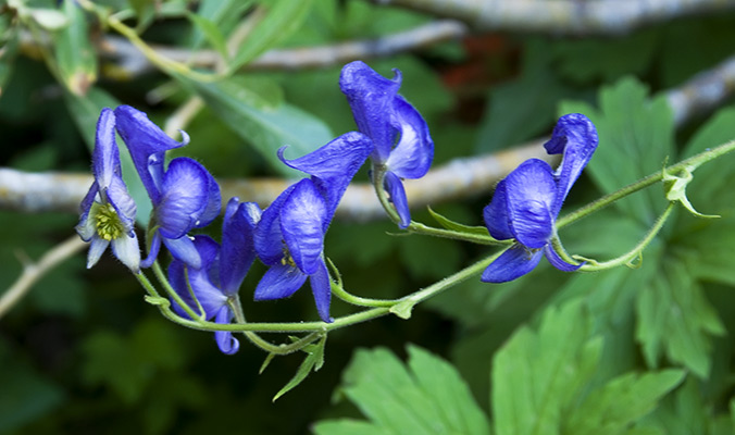
<svg viewBox="0 0 735 435"><path fill-rule="evenodd" d="M297 183L281 208L281 232L294 262L308 275L321 261L325 221L328 222L327 206L314 183Z"/></svg>

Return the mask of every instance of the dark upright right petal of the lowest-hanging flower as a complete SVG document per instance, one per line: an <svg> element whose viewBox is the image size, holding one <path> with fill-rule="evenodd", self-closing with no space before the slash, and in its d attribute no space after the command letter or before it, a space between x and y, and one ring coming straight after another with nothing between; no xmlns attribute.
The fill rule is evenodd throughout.
<svg viewBox="0 0 735 435"><path fill-rule="evenodd" d="M222 261L220 286L225 295L235 295L256 260L253 232L260 220L260 208L254 202L240 203L232 198L222 223Z"/></svg>

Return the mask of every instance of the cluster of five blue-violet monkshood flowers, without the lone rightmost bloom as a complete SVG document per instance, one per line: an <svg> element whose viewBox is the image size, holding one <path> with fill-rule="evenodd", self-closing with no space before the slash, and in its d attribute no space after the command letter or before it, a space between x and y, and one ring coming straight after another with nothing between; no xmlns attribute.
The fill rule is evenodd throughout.
<svg viewBox="0 0 735 435"><path fill-rule="evenodd" d="M278 157L308 178L284 190L269 208L233 198L226 206L222 239L191 235L220 214L222 199L214 177L197 161L179 157L166 163L166 151L185 146L148 116L129 107L104 109L94 152L95 183L82 202L79 235L91 241L88 266L108 245L134 273L157 263L161 246L172 256L167 281L173 310L182 318L228 324L244 321L239 287L258 258L269 269L260 279L256 300L291 296L311 284L316 310L332 322L332 278L326 266L324 237L335 210L359 169L370 157L381 174L398 215L407 227L410 213L401 178L423 176L434 144L419 112L401 96L400 73L386 79L362 62L345 66L340 88L346 94L360 132L350 132L297 159ZM153 206L141 260L134 231L136 204L122 179L115 130L122 137ZM228 332L215 333L224 353L239 343Z"/></svg>

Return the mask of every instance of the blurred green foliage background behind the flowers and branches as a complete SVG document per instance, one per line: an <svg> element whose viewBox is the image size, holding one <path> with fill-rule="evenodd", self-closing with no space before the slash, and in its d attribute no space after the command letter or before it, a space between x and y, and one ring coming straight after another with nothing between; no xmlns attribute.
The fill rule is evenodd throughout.
<svg viewBox="0 0 735 435"><path fill-rule="evenodd" d="M72 1L15 3L23 13L0 7L2 166L87 171L99 111L120 103L163 125L180 104L200 97L205 107L186 126L191 144L177 153L195 157L217 177L288 174L274 159L277 148L290 145L289 156L299 156L356 128L338 88L341 65L238 71L213 83L165 69L126 74L115 59L95 55L94 42L114 34L99 17ZM245 44L228 54L232 70L272 48L379 38L432 20L361 0L298 8L287 0L97 3L124 11L124 22L146 41L219 52L242 30L244 17L260 14ZM23 46L36 34L48 36L46 52ZM661 97L735 53L733 14L614 38L520 35L472 35L370 61L386 76L394 67L402 72L401 92L427 120L437 164L548 134L562 113L585 113L599 129L600 146L565 204L573 210L660 170L667 159L735 138L732 100L675 129ZM161 95L162 101L153 98ZM123 171L133 174L125 157ZM366 171L358 179L365 181ZM698 169L688 197L697 210L722 217L701 220L680 210L639 269L570 275L541 264L504 285L464 282L419 306L409 321L385 318L336 331L321 370L275 402L271 398L297 373L303 355L275 359L258 375L264 353L244 341L238 355L221 355L211 334L160 318L111 257L87 271L80 254L45 276L0 322L0 433L493 427L496 434L732 434L733 182L732 157ZM145 192L127 183L140 209ZM564 246L586 257L618 256L645 234L663 198L655 186L577 222L561 232ZM434 209L481 225L488 200ZM0 212L0 288L20 275L23 259L37 259L68 237L76 217ZM424 211L415 219L432 221ZM489 253L386 233L397 229L386 222L332 225L326 251L353 294L400 297ZM260 272L256 266L241 290L250 319L314 316L304 290L289 300L250 302ZM349 312L335 302L333 315Z"/></svg>

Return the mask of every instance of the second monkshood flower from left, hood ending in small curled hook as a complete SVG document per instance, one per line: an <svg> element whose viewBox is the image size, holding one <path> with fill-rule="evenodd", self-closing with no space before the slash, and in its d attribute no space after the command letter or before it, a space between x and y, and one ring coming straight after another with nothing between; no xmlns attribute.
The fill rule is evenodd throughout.
<svg viewBox="0 0 735 435"><path fill-rule="evenodd" d="M176 158L164 169L165 152L188 144L170 138L148 116L129 105L115 109L117 133L127 145L133 163L153 203L149 227L154 228L148 258L149 268L163 243L171 254L195 269L201 268L201 257L187 233L209 225L222 206L220 186L197 161Z"/></svg>

